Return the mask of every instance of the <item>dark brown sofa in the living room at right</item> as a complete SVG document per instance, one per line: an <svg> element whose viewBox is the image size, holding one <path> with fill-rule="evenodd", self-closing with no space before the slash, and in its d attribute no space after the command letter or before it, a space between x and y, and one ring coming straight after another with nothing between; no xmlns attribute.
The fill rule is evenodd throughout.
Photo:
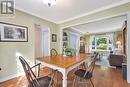
<svg viewBox="0 0 130 87"><path fill-rule="evenodd" d="M108 57L110 66L122 66L122 63L124 62L124 56L123 55L117 55L117 54L110 54Z"/></svg>

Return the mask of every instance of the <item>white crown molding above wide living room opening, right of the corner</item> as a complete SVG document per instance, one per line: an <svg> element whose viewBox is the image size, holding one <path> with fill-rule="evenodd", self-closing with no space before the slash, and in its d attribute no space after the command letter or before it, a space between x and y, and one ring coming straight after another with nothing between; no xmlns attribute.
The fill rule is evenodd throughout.
<svg viewBox="0 0 130 87"><path fill-rule="evenodd" d="M126 4L128 2L130 2L130 0L123 0L123 1L120 1L118 3L111 4L111 5L108 5L108 6L87 12L85 14L82 14L82 15L79 15L79 16L76 16L76 17L73 17L73 18L69 18L69 19L66 19L64 21L59 21L59 22L56 22L56 23L62 24L62 23L65 23L65 22L68 22L68 21L71 21L71 20L74 20L74 19L77 19L77 18L80 18L80 17L83 17L83 16L91 15L91 14L94 14L94 13L97 13L97 12L100 12L100 11L103 11L103 10L107 10L107 9L110 9L110 8L113 8L113 7L116 7L116 6L120 6L120 5Z"/></svg>

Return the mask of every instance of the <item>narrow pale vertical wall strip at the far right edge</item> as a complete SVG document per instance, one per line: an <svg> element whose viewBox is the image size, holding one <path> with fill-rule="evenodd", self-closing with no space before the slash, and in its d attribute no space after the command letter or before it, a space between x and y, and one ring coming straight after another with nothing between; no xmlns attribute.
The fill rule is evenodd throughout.
<svg viewBox="0 0 130 87"><path fill-rule="evenodd" d="M127 15L127 81L130 83L130 12Z"/></svg>

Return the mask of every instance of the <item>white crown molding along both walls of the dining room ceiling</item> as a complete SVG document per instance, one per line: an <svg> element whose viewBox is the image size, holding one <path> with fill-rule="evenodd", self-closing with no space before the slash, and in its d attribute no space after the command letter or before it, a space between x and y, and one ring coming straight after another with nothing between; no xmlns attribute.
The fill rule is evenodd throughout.
<svg viewBox="0 0 130 87"><path fill-rule="evenodd" d="M104 7L102 7L102 8L97 9L97 10L93 10L93 11L84 13L84 14L82 14L82 15L75 16L75 17L73 17L73 18L68 18L68 19L63 20L63 21L54 21L54 20L52 20L52 19L45 18L45 17L43 17L43 16L40 16L40 15L38 15L38 14L35 14L35 13L33 13L33 12L24 10L24 9L22 9L22 8L19 8L19 7L16 7L16 9L19 10L19 11L25 12L25 13L27 13L27 14L30 14L30 15L32 15L32 16L39 17L39 18L41 18L41 19L43 19L43 20L52 22L52 23L62 24L62 23L64 23L64 22L68 22L68 21L71 21L71 20L74 20L74 19L77 19L77 18L80 18L80 17L83 17L83 16L91 15L91 14L94 14L94 13L96 13L96 12L100 12L100 11L107 10L107 9L110 9L110 8L113 8L113 7L116 7L116 6L119 6L119 5L126 4L126 3L128 3L128 2L130 2L130 0L122 0L122 1L117 2L117 3L115 3L115 4L111 4L111 5L108 5L108 6L104 6Z"/></svg>

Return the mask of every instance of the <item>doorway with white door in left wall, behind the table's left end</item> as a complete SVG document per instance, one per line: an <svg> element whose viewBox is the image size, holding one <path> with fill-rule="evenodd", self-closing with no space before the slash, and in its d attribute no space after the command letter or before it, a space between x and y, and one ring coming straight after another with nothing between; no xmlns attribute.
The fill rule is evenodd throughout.
<svg viewBox="0 0 130 87"><path fill-rule="evenodd" d="M35 25L35 58L50 55L50 29Z"/></svg>

